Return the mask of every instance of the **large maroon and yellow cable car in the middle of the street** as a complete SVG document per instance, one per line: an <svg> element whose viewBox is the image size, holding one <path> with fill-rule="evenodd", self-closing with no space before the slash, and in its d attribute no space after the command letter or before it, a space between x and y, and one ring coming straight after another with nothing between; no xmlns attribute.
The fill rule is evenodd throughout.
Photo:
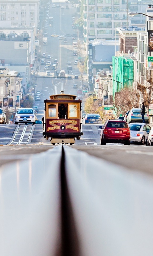
<svg viewBox="0 0 153 256"><path fill-rule="evenodd" d="M81 135L81 100L76 100L75 95L51 95L50 100L45 100L45 115L43 121L43 136L55 143L75 143L75 138L80 140Z"/></svg>

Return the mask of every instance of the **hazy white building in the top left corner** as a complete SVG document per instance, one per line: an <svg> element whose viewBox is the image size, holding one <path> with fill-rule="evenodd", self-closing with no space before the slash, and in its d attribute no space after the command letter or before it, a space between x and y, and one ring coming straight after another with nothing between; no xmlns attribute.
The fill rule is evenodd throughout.
<svg viewBox="0 0 153 256"><path fill-rule="evenodd" d="M11 21L11 27L38 27L40 0L0 1L0 20Z"/></svg>

